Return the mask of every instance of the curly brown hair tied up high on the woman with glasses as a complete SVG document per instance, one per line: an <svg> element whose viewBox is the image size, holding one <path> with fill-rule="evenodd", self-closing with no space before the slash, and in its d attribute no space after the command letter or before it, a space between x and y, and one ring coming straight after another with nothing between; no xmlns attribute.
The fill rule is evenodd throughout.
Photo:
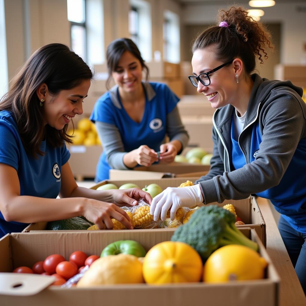
<svg viewBox="0 0 306 306"><path fill-rule="evenodd" d="M226 22L227 27L220 27L219 22ZM260 22L256 22L242 7L232 6L227 11L219 10L218 25L202 32L192 46L192 53L210 45L216 45L216 59L228 62L241 58L246 73L251 73L256 66L256 56L260 63L268 58L265 45L273 49L271 34Z"/></svg>

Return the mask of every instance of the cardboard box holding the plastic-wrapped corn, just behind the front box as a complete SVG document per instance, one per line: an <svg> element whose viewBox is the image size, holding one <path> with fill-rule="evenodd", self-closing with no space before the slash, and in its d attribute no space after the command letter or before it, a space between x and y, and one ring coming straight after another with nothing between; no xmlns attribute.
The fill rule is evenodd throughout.
<svg viewBox="0 0 306 306"><path fill-rule="evenodd" d="M120 187L123 184L126 183L134 183L140 188L144 188L146 185L150 185L152 183L160 185L162 189L166 189L167 187L177 187L181 183L184 183L186 180L190 180L195 182L196 177L188 177L188 178L165 178L165 179L150 179L150 180L105 180L103 182L100 182L99 184L91 187L91 189L97 189L101 185L105 185L108 183L115 184L116 186ZM260 212L260 209L258 207L258 204L256 202L255 197L249 197L244 200L225 200L223 203L211 203L216 204L219 207L222 207L223 205L227 203L232 203L234 207L236 208L237 216L239 216L242 221L245 223L245 225L239 225L237 226L239 229L245 228L245 227L252 227L256 230L260 240L263 242L263 244L266 246L266 223L263 220L263 216ZM210 205L211 205L210 204ZM54 231L45 231L47 226L47 222L38 222L38 223L32 223L29 226L27 226L23 232L32 232L32 231L44 231L44 232L54 232ZM155 229L155 230L161 230L161 229ZM63 232L63 231L61 231ZM73 231L75 232L75 231ZM110 232L110 231L107 231Z"/></svg>

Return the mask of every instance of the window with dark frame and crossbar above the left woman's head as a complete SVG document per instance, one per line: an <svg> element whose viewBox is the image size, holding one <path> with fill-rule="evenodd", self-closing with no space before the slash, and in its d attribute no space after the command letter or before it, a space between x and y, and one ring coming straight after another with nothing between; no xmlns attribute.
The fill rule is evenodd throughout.
<svg viewBox="0 0 306 306"><path fill-rule="evenodd" d="M85 0L67 0L67 15L71 25L71 48L86 60Z"/></svg>

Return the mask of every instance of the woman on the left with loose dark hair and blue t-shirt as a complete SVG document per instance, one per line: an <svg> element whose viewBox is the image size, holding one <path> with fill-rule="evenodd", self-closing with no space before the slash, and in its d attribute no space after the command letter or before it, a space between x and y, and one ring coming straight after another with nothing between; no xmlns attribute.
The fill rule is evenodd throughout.
<svg viewBox="0 0 306 306"><path fill-rule="evenodd" d="M0 100L0 237L30 222L75 216L101 229L112 228L111 218L132 228L118 206L136 205L140 198L151 202L138 188L96 191L76 185L66 130L83 113L92 77L78 55L53 43L28 59Z"/></svg>

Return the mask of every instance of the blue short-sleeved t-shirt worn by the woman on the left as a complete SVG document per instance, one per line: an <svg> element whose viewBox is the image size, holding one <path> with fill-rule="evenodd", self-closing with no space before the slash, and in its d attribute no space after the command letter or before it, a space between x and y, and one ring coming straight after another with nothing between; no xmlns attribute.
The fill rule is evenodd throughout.
<svg viewBox="0 0 306 306"><path fill-rule="evenodd" d="M0 111L0 163L16 169L21 196L56 199L61 188L61 168L70 153L65 144L52 148L43 141L40 150L46 152L37 158L28 155L21 142L18 128L10 112ZM7 222L0 211L0 237L21 232L28 223Z"/></svg>

